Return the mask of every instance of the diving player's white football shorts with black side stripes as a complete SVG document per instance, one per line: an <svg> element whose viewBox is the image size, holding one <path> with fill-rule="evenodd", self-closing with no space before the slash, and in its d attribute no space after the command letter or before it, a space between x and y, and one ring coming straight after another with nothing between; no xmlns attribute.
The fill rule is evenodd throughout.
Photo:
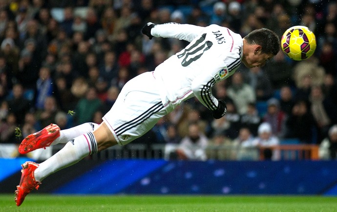
<svg viewBox="0 0 337 212"><path fill-rule="evenodd" d="M124 85L103 121L118 144L125 145L143 136L172 110L171 104L163 105L152 72L145 72Z"/></svg>

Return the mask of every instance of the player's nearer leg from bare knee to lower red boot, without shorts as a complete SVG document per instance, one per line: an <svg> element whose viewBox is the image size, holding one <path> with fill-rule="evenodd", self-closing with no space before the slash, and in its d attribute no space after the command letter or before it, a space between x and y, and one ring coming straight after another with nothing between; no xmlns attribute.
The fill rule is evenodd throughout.
<svg viewBox="0 0 337 212"><path fill-rule="evenodd" d="M44 162L22 164L21 181L15 192L17 206L22 204L30 191L39 187L45 177L115 144L117 144L117 141L103 122L93 132L85 133L67 142L63 149Z"/></svg>

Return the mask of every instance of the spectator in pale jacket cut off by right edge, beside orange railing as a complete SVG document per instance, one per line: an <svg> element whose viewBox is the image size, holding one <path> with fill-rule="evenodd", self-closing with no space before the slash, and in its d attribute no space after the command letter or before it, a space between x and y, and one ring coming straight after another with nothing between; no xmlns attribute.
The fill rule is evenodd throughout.
<svg viewBox="0 0 337 212"><path fill-rule="evenodd" d="M319 144L319 159L336 159L337 157L337 125L330 127L328 135Z"/></svg>

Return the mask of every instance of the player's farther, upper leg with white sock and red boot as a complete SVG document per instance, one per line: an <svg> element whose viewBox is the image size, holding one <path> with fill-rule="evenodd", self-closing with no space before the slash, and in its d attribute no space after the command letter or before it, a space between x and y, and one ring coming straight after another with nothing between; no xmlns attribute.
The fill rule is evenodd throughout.
<svg viewBox="0 0 337 212"><path fill-rule="evenodd" d="M25 137L19 146L19 152L21 154L27 154L33 150L45 148L50 145L66 143L84 133L92 132L98 125L99 124L95 123L84 123L69 129L60 130L58 125L50 124L39 132Z"/></svg>

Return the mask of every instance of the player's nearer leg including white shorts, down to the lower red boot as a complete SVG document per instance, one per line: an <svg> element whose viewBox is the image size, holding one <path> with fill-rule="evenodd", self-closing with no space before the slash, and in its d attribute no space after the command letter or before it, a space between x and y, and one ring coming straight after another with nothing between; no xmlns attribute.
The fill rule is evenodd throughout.
<svg viewBox="0 0 337 212"><path fill-rule="evenodd" d="M131 81L133 83L130 84ZM21 205L24 197L45 177L117 142L124 145L139 138L172 109L170 104L163 105L151 73L133 78L123 87L97 129L69 141L41 164L23 164L21 182L16 191L17 205Z"/></svg>

